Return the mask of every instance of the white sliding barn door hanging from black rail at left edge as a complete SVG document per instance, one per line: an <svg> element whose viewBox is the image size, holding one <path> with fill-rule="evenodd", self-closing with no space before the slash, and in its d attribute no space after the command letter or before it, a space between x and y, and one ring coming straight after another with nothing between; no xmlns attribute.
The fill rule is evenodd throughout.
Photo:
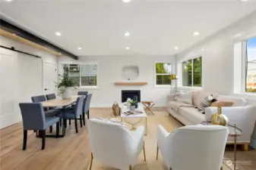
<svg viewBox="0 0 256 170"><path fill-rule="evenodd" d="M0 129L19 122L17 52L0 48Z"/></svg>

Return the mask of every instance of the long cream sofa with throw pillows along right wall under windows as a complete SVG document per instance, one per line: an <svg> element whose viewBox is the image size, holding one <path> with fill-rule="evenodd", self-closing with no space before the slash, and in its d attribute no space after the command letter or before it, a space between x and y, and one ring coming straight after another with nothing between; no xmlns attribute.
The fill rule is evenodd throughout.
<svg viewBox="0 0 256 170"><path fill-rule="evenodd" d="M204 92L204 95L201 95L201 100L209 94L209 92ZM191 95L193 95L193 92ZM214 95L219 101L228 100L234 103L232 107L223 107L223 114L228 117L230 125L235 124L242 130L242 135L237 138L237 143L244 144L244 149L248 150L248 144L251 142L251 134L254 130L256 108L252 105L247 105L246 100L242 97L213 94L213 96ZM210 116L213 113L216 113L216 107L207 107L205 114L203 114L199 112L198 109L190 106L191 104L187 104L186 107L179 107L179 110L177 110L177 106L184 104L176 101L175 95L169 95L168 99L167 109L169 114L175 117L175 119L178 119L179 122L182 122L184 125L198 125L202 121L209 120ZM194 100L194 97L192 97L192 100ZM228 138L227 143L233 144L234 138Z"/></svg>

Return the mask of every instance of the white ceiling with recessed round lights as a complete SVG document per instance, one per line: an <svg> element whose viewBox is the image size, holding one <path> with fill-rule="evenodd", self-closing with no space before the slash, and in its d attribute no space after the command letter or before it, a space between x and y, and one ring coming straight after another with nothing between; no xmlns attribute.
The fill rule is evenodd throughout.
<svg viewBox="0 0 256 170"><path fill-rule="evenodd" d="M9 20L79 56L177 54L256 11L256 2L239 0L14 0L0 5ZM200 36L193 36L195 31Z"/></svg>

